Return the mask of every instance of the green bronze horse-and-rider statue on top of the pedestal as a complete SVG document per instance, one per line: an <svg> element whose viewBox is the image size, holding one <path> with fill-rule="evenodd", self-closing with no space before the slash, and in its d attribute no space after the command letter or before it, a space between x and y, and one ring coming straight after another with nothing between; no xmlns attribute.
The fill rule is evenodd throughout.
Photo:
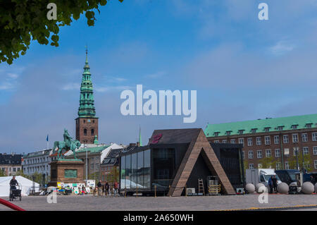
<svg viewBox="0 0 317 225"><path fill-rule="evenodd" d="M68 130L64 129L64 135L63 135L64 141L56 141L54 142L54 148L53 150L57 150L57 159L63 159L64 156L62 154L63 150L72 151L74 154L74 159L77 159L76 157L76 149L80 147L80 141L79 140L73 140L73 138L70 137Z"/></svg>

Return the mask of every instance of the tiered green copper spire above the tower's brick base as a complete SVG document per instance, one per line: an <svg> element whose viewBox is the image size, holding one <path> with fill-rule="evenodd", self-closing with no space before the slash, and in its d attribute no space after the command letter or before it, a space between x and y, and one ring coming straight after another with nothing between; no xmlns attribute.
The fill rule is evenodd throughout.
<svg viewBox="0 0 317 225"><path fill-rule="evenodd" d="M80 107L78 109L79 117L95 117L94 92L92 88L90 67L88 64L88 50L86 47L86 61L84 73L82 73L82 85L80 86Z"/></svg>

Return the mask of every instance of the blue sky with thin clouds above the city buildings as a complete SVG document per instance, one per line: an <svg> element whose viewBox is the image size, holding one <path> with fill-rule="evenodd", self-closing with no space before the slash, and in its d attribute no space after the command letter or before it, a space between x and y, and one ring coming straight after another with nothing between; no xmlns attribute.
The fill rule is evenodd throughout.
<svg viewBox="0 0 317 225"><path fill-rule="evenodd" d="M260 21L258 5L269 6ZM85 16L61 28L60 46L32 42L0 64L0 152L32 152L75 136L85 45L99 117L99 142L143 142L154 129L314 114L316 0L111 0L94 27ZM197 90L197 121L122 116L120 92Z"/></svg>

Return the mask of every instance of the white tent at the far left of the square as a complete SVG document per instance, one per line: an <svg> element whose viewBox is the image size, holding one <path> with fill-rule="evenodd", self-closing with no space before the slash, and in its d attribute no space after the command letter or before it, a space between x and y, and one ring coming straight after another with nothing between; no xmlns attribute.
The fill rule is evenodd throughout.
<svg viewBox="0 0 317 225"><path fill-rule="evenodd" d="M13 176L0 176L0 197L8 197L10 195L10 181ZM27 196L32 190L33 181L23 176L15 176L15 180L22 188L21 195ZM18 188L18 187L17 187ZM35 192L39 192L39 184L35 183Z"/></svg>

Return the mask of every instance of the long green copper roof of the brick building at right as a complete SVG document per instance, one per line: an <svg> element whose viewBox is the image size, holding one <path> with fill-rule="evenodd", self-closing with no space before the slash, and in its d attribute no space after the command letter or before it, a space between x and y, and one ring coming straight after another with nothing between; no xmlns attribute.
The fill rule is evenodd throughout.
<svg viewBox="0 0 317 225"><path fill-rule="evenodd" d="M282 126L282 130L294 130L293 125L297 126L295 130L307 128L307 124L311 124L311 128L316 128L317 114L209 124L204 133L207 137L215 137L217 132L218 136L227 135L227 131L231 131L230 135L238 135L239 130L244 130L243 134L252 133L252 129L256 129L256 133L263 133L277 131L279 126ZM268 128L268 131L266 131L266 128Z"/></svg>

